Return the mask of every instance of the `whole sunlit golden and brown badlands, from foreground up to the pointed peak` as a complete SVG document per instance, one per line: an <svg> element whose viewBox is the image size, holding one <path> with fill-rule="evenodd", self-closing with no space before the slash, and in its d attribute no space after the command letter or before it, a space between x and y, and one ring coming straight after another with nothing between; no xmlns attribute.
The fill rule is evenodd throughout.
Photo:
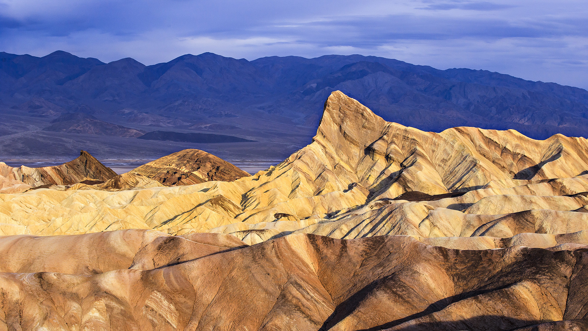
<svg viewBox="0 0 588 331"><path fill-rule="evenodd" d="M588 327L584 138L426 133L333 92L312 144L254 176L178 177L200 154L176 154L0 194L0 328Z"/></svg>

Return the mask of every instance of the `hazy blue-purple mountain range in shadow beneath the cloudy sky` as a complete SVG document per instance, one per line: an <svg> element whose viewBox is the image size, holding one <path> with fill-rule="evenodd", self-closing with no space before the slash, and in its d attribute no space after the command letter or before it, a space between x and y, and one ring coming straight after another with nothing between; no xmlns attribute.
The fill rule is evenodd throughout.
<svg viewBox="0 0 588 331"><path fill-rule="evenodd" d="M105 64L63 51L41 58L0 52L0 148L14 156L44 153L34 144L18 145L22 133L45 141L63 134L73 141L75 134L117 137L97 143L108 145L166 131L273 141L287 145L287 155L308 143L335 90L388 121L426 131L473 126L513 128L538 139L588 137L588 91L497 72L362 55L247 61L203 53L145 66L132 58ZM72 112L92 117L50 123ZM148 154L149 146L137 153Z"/></svg>

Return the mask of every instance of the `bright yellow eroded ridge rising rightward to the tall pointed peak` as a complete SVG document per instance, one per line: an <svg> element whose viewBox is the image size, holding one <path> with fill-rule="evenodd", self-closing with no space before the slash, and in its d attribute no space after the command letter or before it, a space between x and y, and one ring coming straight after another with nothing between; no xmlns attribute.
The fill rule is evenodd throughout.
<svg viewBox="0 0 588 331"><path fill-rule="evenodd" d="M158 187L139 171L99 185L77 184L66 191L41 188L2 194L0 234L118 229L184 234L276 220L280 224L300 220L298 229L302 229L325 223L332 214L355 213L353 208L361 208L356 206L385 201L406 191L441 194L469 190L462 197L423 202L429 207L409 213L430 207L479 215L528 209L571 211L588 204L586 196L564 196L588 191L587 176L575 177L588 169L587 151L586 139L562 135L537 141L513 130L452 128L426 133L386 122L337 91L325 103L312 144L255 176L230 183ZM546 181L549 178L562 179ZM290 218L276 217L282 214ZM402 226L406 231L411 227L407 224ZM255 229L252 226L231 229ZM298 230L293 227L275 230Z"/></svg>

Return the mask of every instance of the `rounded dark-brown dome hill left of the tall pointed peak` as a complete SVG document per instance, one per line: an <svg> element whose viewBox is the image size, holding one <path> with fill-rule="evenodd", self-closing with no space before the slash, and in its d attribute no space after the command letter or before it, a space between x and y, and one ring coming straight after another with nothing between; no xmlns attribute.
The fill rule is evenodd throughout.
<svg viewBox="0 0 588 331"><path fill-rule="evenodd" d="M205 151L179 151L135 168L133 173L159 181L165 186L192 185L205 181L233 181L249 174L222 158Z"/></svg>

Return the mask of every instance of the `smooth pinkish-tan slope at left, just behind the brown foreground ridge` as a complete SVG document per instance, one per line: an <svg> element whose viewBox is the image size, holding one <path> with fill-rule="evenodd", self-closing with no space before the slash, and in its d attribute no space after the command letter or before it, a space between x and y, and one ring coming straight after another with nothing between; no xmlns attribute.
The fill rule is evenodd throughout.
<svg viewBox="0 0 588 331"><path fill-rule="evenodd" d="M119 269L151 270L247 246L235 236L119 230L70 236L0 237L0 273L92 275Z"/></svg>

